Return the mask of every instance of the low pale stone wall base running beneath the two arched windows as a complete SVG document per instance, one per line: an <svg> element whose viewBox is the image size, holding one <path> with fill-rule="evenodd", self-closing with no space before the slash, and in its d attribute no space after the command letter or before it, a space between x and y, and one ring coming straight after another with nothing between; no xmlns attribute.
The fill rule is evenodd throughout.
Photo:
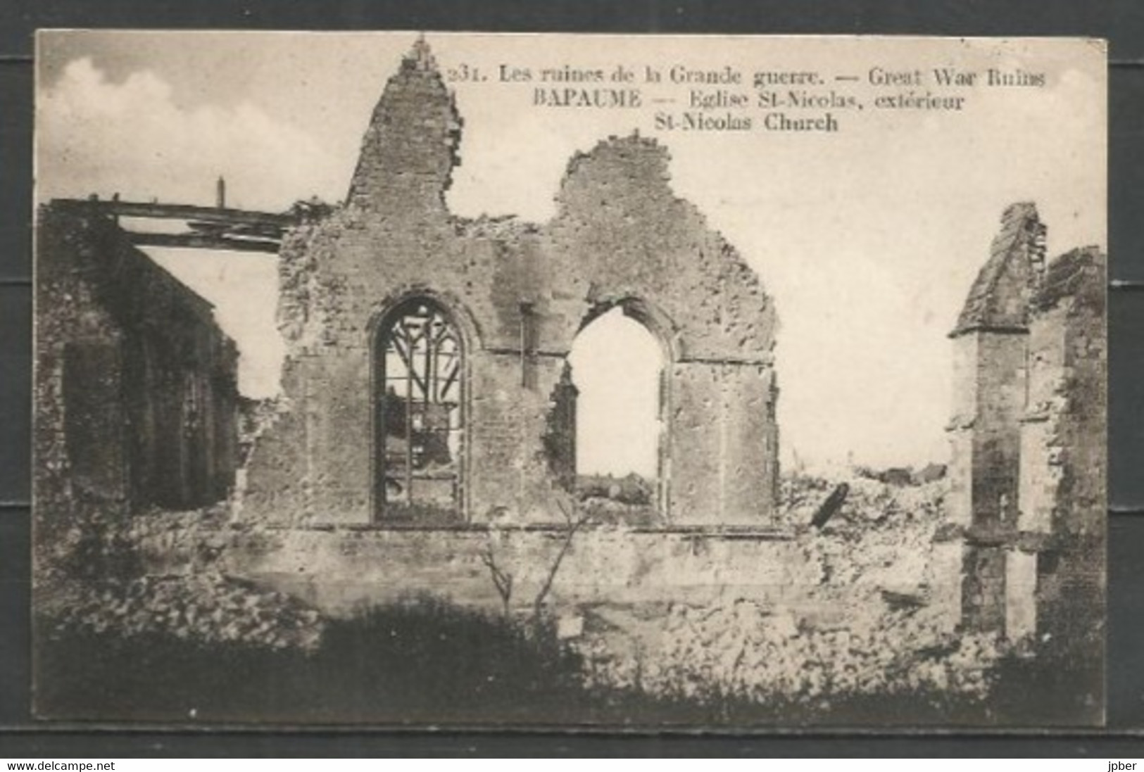
<svg viewBox="0 0 1144 772"><path fill-rule="evenodd" d="M198 573L201 533L172 544L141 541L152 573ZM418 594L499 611L490 556L514 578L511 607L531 610L556 563L562 526L477 525L458 528L222 528L213 571L287 591L334 615ZM546 603L704 603L750 597L770 603L817 586L815 567L782 531L591 527L572 538Z"/></svg>

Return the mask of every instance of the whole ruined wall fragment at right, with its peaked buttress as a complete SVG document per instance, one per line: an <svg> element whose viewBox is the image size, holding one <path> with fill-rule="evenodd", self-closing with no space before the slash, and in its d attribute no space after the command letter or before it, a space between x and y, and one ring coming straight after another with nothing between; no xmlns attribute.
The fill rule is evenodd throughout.
<svg viewBox="0 0 1144 772"><path fill-rule="evenodd" d="M1091 651L1103 643L1079 642L1102 637L1105 260L1088 247L1046 264L1044 239L1033 204L1006 209L950 333L948 508L962 624Z"/></svg>

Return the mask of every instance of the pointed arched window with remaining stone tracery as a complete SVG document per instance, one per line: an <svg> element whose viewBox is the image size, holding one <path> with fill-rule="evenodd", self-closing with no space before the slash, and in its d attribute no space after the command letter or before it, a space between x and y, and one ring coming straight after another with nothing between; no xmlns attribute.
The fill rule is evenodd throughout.
<svg viewBox="0 0 1144 772"><path fill-rule="evenodd" d="M466 347L454 316L428 295L379 321L374 355L374 517L463 520Z"/></svg>

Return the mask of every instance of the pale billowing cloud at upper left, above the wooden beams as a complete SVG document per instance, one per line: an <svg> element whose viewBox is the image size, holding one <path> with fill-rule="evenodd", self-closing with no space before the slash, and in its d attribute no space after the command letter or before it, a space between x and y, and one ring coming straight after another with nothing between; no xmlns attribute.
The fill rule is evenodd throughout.
<svg viewBox="0 0 1144 772"><path fill-rule="evenodd" d="M70 62L37 102L40 199L86 197L213 204L280 210L318 194L340 198L348 170L318 138L276 120L251 101L178 104L150 71L111 82L90 58Z"/></svg>

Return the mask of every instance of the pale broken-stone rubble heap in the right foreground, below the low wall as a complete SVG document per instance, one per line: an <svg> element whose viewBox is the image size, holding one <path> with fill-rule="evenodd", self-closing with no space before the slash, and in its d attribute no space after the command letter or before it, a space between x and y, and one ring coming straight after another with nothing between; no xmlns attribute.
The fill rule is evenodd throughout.
<svg viewBox="0 0 1144 772"><path fill-rule="evenodd" d="M658 636L635 656L599 640L583 646L594 685L684 699L785 698L818 702L923 691L984 699L1003 654L992 635L942 634L924 614L888 610L849 629L812 629L749 600L673 605Z"/></svg>

